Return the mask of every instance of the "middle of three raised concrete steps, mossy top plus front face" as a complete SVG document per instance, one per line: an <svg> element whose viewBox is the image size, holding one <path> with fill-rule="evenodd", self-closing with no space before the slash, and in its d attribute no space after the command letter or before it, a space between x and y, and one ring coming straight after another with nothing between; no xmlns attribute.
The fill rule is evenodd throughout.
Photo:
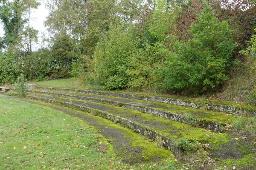
<svg viewBox="0 0 256 170"><path fill-rule="evenodd" d="M155 116L164 117L166 119L187 123L193 126L200 126L204 127L205 129L215 131L224 130L227 123L230 124L234 119L238 117L220 112L202 111L199 109L186 108L182 106L162 104L157 102L147 102L136 99L125 99L119 97L63 91L32 90L30 92L130 108L137 111L150 113Z"/></svg>

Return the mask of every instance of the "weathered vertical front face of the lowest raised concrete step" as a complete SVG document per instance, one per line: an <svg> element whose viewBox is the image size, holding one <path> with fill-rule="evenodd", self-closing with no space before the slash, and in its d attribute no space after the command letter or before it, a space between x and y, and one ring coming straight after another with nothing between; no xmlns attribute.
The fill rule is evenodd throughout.
<svg viewBox="0 0 256 170"><path fill-rule="evenodd" d="M79 111L84 111L84 112L88 112L91 113L95 116L100 116L102 118L108 119L112 122L118 122L120 125L127 127L131 130L133 130L136 133L139 133L140 135L143 136L148 136L150 139L162 139L162 144L163 147L165 147L168 150L171 150L173 153L175 153L176 156L183 156L184 151L182 150L182 148L177 146L177 141L175 139L171 139L170 137L163 135L149 127L146 127L144 125L141 125L137 122L133 122L131 120L128 120L126 118L122 118L120 116L115 116L111 113L105 112L105 111L100 111L97 109L93 109L93 108L88 108L85 106L81 106L81 105L76 105L73 103L68 103L68 102L63 102L63 101L58 101L58 100L52 100L52 99L47 99L47 98L43 98L43 97L37 97L37 96L29 96L26 95L26 98L28 99L33 99L33 100L38 100L41 102L47 102L47 103L51 103L54 105L59 105L59 106L64 106L67 108L72 108L72 109L76 109Z"/></svg>

